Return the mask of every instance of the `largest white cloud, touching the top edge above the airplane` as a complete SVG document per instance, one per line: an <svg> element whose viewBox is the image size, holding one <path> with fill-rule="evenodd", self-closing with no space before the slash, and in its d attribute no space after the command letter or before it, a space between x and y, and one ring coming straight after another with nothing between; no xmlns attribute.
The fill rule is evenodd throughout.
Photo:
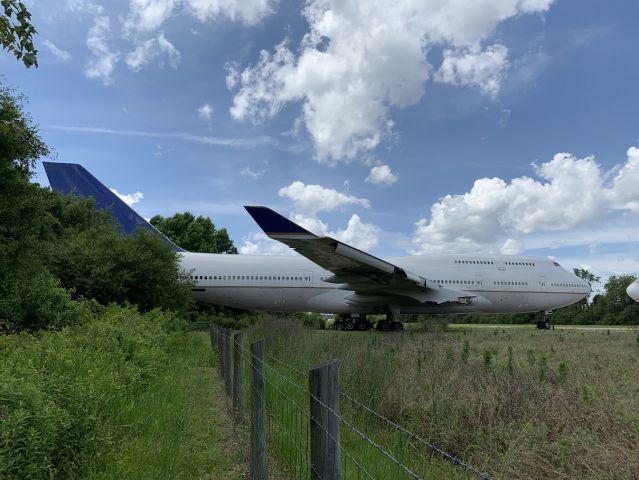
<svg viewBox="0 0 639 480"><path fill-rule="evenodd" d="M227 86L237 89L231 115L260 122L299 102L317 158L355 158L391 132L391 109L421 100L433 70L430 47L447 48L440 81L496 95L508 51L500 44L482 50L482 42L500 22L544 12L552 1L399 0L389 8L383 0L310 0L299 48L284 40L242 71L227 65Z"/></svg>

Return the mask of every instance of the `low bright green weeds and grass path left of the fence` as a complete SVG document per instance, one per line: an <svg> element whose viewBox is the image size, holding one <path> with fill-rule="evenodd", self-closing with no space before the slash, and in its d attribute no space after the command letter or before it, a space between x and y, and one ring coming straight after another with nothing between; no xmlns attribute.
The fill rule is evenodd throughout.
<svg viewBox="0 0 639 480"><path fill-rule="evenodd" d="M0 478L241 478L208 335L159 311L85 313L0 336Z"/></svg>

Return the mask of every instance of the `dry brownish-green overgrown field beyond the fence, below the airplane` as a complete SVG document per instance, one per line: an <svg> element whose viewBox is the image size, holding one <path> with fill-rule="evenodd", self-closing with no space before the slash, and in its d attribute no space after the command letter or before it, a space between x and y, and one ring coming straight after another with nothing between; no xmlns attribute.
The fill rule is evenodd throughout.
<svg viewBox="0 0 639 480"><path fill-rule="evenodd" d="M265 338L268 353L302 371L338 358L342 392L492 478L633 479L638 333L486 325L346 333L266 319L247 336ZM393 435L367 426L380 443ZM422 473L477 478L411 448Z"/></svg>

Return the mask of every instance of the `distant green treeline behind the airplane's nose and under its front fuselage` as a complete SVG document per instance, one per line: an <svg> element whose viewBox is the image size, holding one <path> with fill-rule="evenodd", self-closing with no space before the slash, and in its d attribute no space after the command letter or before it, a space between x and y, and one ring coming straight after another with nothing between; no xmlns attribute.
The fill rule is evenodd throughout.
<svg viewBox="0 0 639 480"><path fill-rule="evenodd" d="M590 278L594 279L592 275ZM561 325L639 325L639 304L626 294L626 288L635 278L633 275L612 275L604 284L602 293L595 295L590 301L584 299L553 311L551 322ZM444 323L517 324L536 323L540 319L540 313L419 316L420 321Z"/></svg>

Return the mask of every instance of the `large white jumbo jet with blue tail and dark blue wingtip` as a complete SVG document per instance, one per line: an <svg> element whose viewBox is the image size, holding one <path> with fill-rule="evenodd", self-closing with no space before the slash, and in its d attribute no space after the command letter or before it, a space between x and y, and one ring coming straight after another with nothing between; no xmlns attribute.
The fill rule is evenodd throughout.
<svg viewBox="0 0 639 480"><path fill-rule="evenodd" d="M187 252L166 238L84 167L43 162L54 190L92 196L111 208L121 231L145 228L180 257L195 298L247 310L336 315L336 330L401 331L398 314L546 312L578 302L590 286L540 256L430 254L382 259L317 236L264 206L244 207L271 239L296 256ZM537 323L550 328L548 315Z"/></svg>

